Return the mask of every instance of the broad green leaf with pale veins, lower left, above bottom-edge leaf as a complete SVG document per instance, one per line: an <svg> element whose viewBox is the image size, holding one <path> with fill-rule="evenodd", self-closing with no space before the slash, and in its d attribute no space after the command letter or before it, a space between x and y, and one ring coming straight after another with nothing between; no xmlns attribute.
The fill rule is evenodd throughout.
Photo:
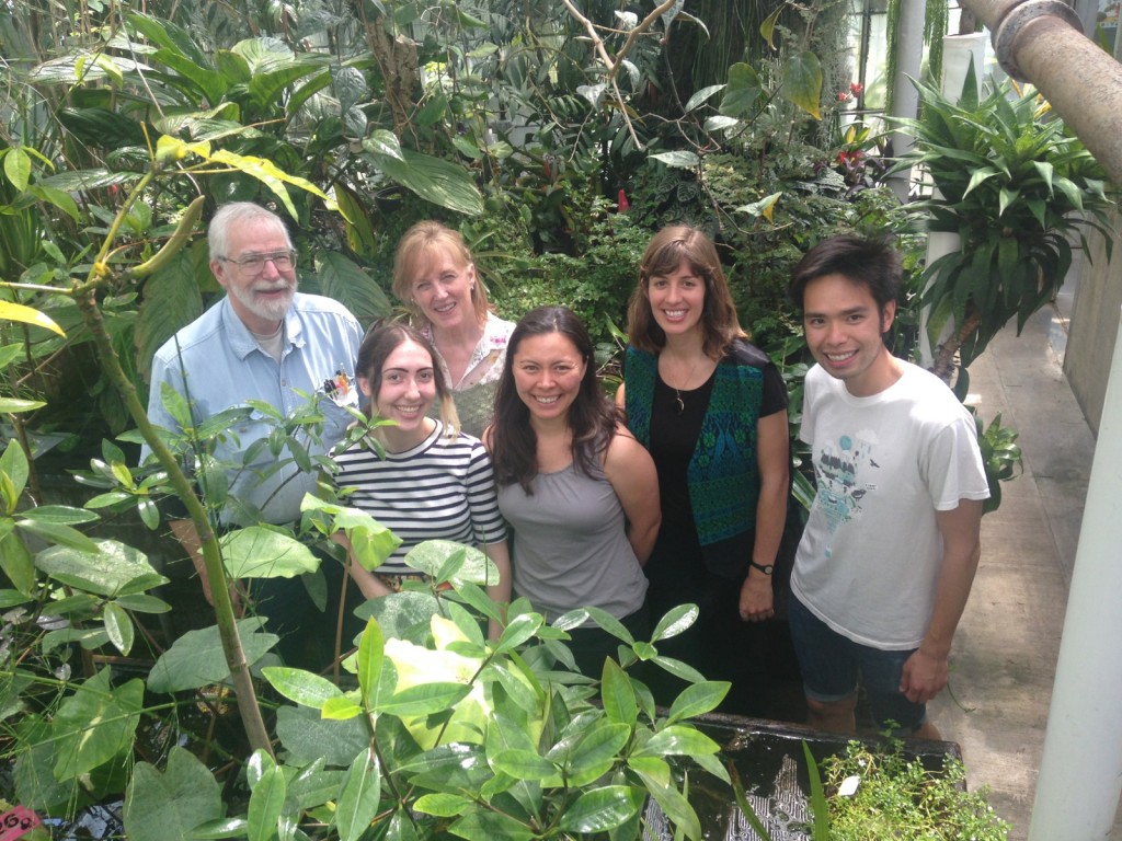
<svg viewBox="0 0 1122 841"><path fill-rule="evenodd" d="M142 708L144 683L139 678L112 686L110 669L103 668L76 685L50 728L58 742L55 779L88 774L131 750Z"/></svg>

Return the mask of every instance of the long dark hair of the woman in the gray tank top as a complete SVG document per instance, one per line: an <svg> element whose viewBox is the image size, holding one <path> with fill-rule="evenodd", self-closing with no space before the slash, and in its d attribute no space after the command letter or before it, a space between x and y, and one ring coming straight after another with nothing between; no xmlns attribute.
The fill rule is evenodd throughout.
<svg viewBox="0 0 1122 841"><path fill-rule="evenodd" d="M573 461L586 475L592 474L619 419L619 412L596 381L592 340L576 313L564 306L543 306L526 313L507 343L490 431L496 481L499 484L517 482L526 493L533 493L530 483L537 475L537 434L530 425L530 408L518 397L514 383L514 359L523 339L549 333L565 336L585 360L585 376L569 406L568 423L572 431Z"/></svg>

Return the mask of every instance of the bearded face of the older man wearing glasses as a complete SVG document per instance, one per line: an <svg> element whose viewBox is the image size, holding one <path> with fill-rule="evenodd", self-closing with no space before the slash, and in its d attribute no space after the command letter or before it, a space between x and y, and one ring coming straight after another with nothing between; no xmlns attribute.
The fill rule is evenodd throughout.
<svg viewBox="0 0 1122 841"><path fill-rule="evenodd" d="M211 271L230 296L230 305L254 333L273 333L284 320L296 293L296 267L279 270L266 260L259 274L232 260L254 255L285 255L292 243L284 227L269 219L234 222L227 234L226 260L211 260Z"/></svg>

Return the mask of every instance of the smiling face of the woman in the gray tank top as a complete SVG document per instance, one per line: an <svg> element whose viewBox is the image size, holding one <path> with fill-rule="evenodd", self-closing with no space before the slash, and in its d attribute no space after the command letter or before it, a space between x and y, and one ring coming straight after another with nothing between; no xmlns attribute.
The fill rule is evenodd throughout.
<svg viewBox="0 0 1122 841"><path fill-rule="evenodd" d="M532 420L564 419L580 392L587 361L562 333L541 333L518 342L512 370L518 398Z"/></svg>

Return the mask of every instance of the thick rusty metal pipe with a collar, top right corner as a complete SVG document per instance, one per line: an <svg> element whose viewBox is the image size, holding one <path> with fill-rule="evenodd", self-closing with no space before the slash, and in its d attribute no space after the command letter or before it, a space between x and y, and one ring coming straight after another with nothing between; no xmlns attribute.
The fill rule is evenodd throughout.
<svg viewBox="0 0 1122 841"><path fill-rule="evenodd" d="M997 59L1010 75L1031 82L1122 184L1122 64L1083 34L1078 16L1059 0L963 0L963 6L994 34Z"/></svg>

